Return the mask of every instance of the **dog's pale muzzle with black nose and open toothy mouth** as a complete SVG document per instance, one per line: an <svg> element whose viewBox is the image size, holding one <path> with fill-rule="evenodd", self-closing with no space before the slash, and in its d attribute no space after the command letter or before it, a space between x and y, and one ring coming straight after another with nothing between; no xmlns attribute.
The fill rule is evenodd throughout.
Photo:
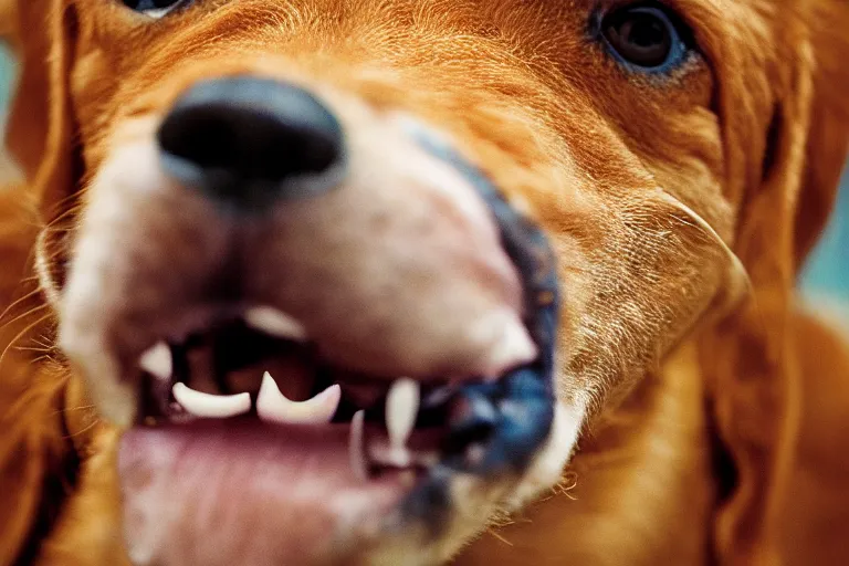
<svg viewBox="0 0 849 566"><path fill-rule="evenodd" d="M454 478L517 481L549 438L558 286L545 235L428 127L369 124L346 129L292 84L208 81L161 120L160 180L117 165L95 179L88 213L113 216L83 219L60 332L106 416L117 397L104 384L135 399L119 468L136 562L171 547L158 523L179 505L171 492L208 496L179 470L249 461L254 442L280 474L286 459L327 462L302 512L321 501L334 528L345 507L378 532L440 536ZM91 260L104 226L127 244L113 263ZM321 494L378 488L356 505Z"/></svg>

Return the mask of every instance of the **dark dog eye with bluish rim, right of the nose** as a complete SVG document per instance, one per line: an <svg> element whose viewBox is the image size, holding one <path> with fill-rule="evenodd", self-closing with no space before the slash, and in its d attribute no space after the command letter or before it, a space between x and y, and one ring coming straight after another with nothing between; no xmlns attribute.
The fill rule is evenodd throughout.
<svg viewBox="0 0 849 566"><path fill-rule="evenodd" d="M614 10L602 18L600 31L614 55L640 71L670 70L688 54L689 30L660 4Z"/></svg>

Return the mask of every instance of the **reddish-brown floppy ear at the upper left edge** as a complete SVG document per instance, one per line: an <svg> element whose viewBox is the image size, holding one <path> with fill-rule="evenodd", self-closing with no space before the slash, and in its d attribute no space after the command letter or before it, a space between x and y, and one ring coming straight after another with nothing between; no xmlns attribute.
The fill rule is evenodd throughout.
<svg viewBox="0 0 849 566"><path fill-rule="evenodd" d="M20 31L12 38L21 69L7 146L44 212L72 190L78 163L67 90L74 12L61 0L0 0L0 14L15 22L7 25L12 34Z"/></svg>

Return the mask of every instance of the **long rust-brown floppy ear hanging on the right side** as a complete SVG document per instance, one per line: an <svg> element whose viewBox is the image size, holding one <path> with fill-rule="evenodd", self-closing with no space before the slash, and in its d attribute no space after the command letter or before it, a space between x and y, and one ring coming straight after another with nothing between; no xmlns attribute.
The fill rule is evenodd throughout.
<svg viewBox="0 0 849 566"><path fill-rule="evenodd" d="M849 146L849 66L840 60L849 54L849 2L799 0L777 11L792 15L773 38L778 53L762 91L771 93L772 118L767 112L757 125L768 127L745 125L750 139L767 135L763 161L746 177L735 244L754 296L701 343L731 463L714 525L722 565L780 563L777 518L787 512L803 382L790 329L796 277L830 212Z"/></svg>

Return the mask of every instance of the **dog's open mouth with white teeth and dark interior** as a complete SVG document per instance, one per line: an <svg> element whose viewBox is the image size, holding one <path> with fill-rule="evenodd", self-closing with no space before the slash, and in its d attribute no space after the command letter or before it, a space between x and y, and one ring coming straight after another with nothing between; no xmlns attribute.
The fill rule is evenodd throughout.
<svg viewBox="0 0 849 566"><path fill-rule="evenodd" d="M409 483L459 450L480 458L496 421L496 400L482 394L497 380L388 379L334 367L297 322L271 307L248 310L181 344L160 342L139 366L143 424L254 421L285 428L295 441L305 428L347 430L347 472L364 482L405 472Z"/></svg>

